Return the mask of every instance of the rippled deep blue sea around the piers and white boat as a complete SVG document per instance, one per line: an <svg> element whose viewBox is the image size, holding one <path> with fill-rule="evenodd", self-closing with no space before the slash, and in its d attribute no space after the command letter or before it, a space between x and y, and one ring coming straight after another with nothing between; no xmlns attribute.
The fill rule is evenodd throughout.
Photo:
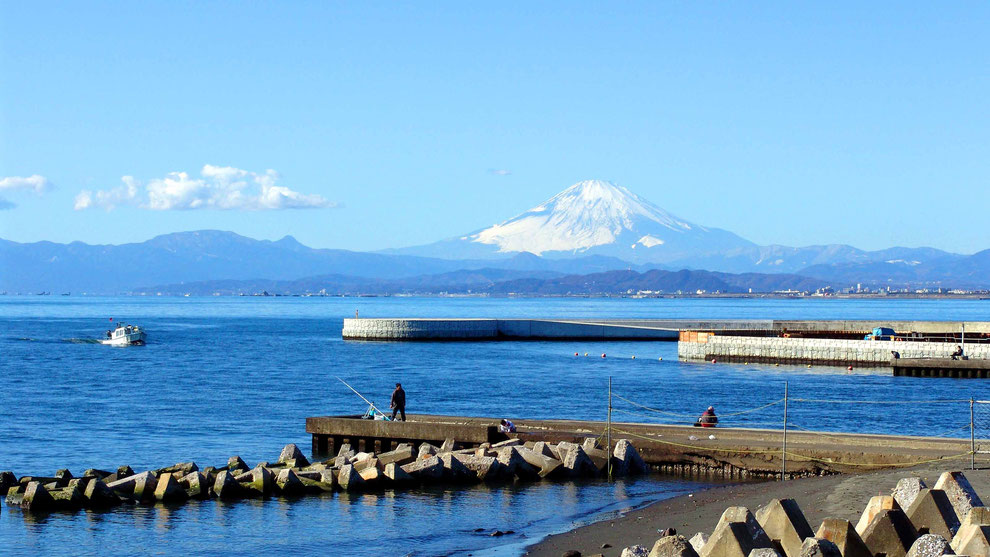
<svg viewBox="0 0 990 557"><path fill-rule="evenodd" d="M833 401L792 403L797 428L917 435L968 435L961 428L969 405L834 401L988 397L974 381L682 363L676 343L344 342L342 320L355 310L362 317L990 319L990 302L982 301L4 296L0 470L222 465L234 454L249 465L275 460L286 443L308 449L307 416L365 410L337 376L384 406L401 381L413 413L582 419L604 419L611 376L616 394L670 413L616 399L617 420L666 423L688 423L709 404L725 415L773 402L787 381L791 397ZM148 345L92 343L110 317L146 327ZM780 410L723 423L777 427ZM3 508L0 547L13 554L518 554L547 533L701 487L651 477L43 518ZM492 538L477 528L516 533Z"/></svg>

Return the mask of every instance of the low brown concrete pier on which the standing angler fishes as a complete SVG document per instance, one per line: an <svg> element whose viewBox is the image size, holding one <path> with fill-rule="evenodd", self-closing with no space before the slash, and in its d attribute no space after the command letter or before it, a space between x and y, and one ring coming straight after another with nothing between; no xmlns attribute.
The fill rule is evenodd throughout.
<svg viewBox="0 0 990 557"><path fill-rule="evenodd" d="M314 454L333 454L342 444L355 450L389 450L398 443L440 445L453 439L463 447L496 443L510 436L527 442L582 443L601 437L604 422L513 420L515 434L497 430L499 420L485 417L410 415L407 422L363 420L356 416L306 419ZM709 439L709 436L715 439ZM695 439L691 439L695 437ZM777 477L781 470L782 431L695 428L654 424L612 424L612 441L631 440L655 469L677 474L725 478ZM986 442L981 442L985 444ZM949 459L969 464L970 441L933 437L787 432L788 476L862 472L910 463ZM987 455L980 462L990 463Z"/></svg>

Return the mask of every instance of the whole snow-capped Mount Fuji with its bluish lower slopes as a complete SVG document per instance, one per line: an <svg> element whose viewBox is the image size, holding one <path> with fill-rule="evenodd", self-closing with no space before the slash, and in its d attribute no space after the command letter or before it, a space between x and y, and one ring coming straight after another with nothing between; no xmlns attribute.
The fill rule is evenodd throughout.
<svg viewBox="0 0 990 557"><path fill-rule="evenodd" d="M676 217L622 186L585 180L501 224L397 251L447 259L607 255L662 264L753 246L731 232Z"/></svg>

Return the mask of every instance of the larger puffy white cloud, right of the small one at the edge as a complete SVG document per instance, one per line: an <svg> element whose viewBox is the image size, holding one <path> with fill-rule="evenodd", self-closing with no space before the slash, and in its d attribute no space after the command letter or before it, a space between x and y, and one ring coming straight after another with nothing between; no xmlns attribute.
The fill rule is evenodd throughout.
<svg viewBox="0 0 990 557"><path fill-rule="evenodd" d="M133 176L121 178L123 185L108 190L83 190L76 195L77 211L91 207L107 210L130 205L155 211L191 209L313 209L336 207L323 196L304 194L278 186L278 173L256 173L230 166L207 164L200 178L186 172L170 172L149 180L142 188Z"/></svg>

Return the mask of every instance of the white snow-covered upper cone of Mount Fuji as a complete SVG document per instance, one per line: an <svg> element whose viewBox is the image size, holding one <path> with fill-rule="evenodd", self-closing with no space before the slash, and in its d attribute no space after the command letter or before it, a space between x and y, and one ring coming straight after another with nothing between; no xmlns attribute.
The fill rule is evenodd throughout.
<svg viewBox="0 0 990 557"><path fill-rule="evenodd" d="M631 232L633 247L661 246L663 236L707 232L642 199L628 189L602 180L585 180L543 204L471 235L471 242L498 251L581 252Z"/></svg>

